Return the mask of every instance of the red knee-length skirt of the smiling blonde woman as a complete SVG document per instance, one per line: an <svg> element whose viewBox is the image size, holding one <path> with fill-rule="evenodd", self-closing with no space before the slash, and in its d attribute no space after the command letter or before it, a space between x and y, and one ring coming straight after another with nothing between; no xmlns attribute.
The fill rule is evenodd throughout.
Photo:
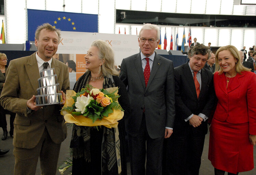
<svg viewBox="0 0 256 175"><path fill-rule="evenodd" d="M254 168L249 123L232 124L213 118L208 159L216 169L236 174Z"/></svg>

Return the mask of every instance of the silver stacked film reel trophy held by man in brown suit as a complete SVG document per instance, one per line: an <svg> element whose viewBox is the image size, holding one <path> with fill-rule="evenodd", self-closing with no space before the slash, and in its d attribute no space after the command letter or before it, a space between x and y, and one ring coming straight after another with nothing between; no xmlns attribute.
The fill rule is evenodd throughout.
<svg viewBox="0 0 256 175"><path fill-rule="evenodd" d="M57 75L54 68L43 69L39 73L36 106L62 104L60 84L57 83Z"/></svg>

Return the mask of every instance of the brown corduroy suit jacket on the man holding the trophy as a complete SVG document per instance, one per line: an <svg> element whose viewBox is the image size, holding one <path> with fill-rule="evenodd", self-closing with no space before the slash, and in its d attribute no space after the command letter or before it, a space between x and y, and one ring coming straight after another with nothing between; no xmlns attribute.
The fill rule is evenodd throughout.
<svg viewBox="0 0 256 175"><path fill-rule="evenodd" d="M60 90L69 89L68 67L52 59ZM52 141L60 144L67 136L67 127L60 114L61 105L47 105L43 109L27 113L27 100L37 95L40 78L36 52L30 56L11 60L0 102L4 109L15 112L13 145L18 148L34 148L45 128Z"/></svg>

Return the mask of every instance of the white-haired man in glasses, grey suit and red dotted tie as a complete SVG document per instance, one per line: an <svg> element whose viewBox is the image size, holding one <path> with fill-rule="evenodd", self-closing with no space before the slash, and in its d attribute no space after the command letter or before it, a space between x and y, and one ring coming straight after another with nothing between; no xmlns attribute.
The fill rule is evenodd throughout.
<svg viewBox="0 0 256 175"><path fill-rule="evenodd" d="M174 67L155 51L160 39L156 25L139 32L141 52L123 59L120 79L128 87L130 115L125 118L131 174L162 174L164 138L170 137L175 117Z"/></svg>

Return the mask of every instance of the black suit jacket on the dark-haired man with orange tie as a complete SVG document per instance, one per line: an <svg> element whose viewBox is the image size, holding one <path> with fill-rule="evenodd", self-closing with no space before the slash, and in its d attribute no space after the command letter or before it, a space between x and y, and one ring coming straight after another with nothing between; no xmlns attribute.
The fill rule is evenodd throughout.
<svg viewBox="0 0 256 175"><path fill-rule="evenodd" d="M211 116L215 102L213 72L205 68L201 69L202 84L198 99L188 63L176 67L174 76L176 104L174 134L187 135L190 132L190 127L195 134L206 134L207 122L194 128L189 125L189 121L185 122L185 119L192 114L199 115L199 113L203 113L207 117Z"/></svg>

